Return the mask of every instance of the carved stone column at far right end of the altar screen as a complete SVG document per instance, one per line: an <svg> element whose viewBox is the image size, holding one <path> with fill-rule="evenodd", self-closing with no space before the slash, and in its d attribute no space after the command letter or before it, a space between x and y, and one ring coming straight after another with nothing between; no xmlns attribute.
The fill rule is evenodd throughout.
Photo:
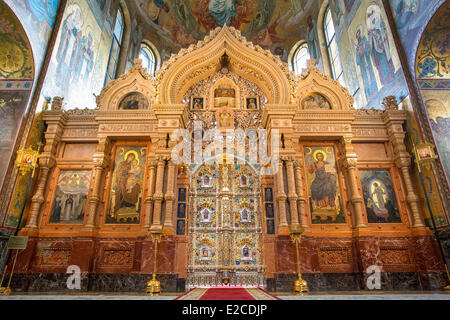
<svg viewBox="0 0 450 320"><path fill-rule="evenodd" d="M411 155L406 150L405 132L402 124L406 121L404 110L386 110L383 113L384 122L388 129L389 141L394 149L394 161L402 173L406 188L406 201L410 208L410 218L414 228L425 227L423 214L419 205L420 199L412 183L409 168L411 166Z"/></svg>

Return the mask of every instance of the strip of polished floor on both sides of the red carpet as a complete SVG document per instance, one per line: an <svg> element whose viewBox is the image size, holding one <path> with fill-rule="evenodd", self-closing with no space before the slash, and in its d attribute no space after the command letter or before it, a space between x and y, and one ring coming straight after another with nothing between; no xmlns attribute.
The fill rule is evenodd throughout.
<svg viewBox="0 0 450 320"><path fill-rule="evenodd" d="M282 300L450 300L450 291L408 291L408 292L312 292L306 295L293 295L292 292L272 293ZM146 296L133 293L11 293L0 296L0 300L173 300L178 294Z"/></svg>

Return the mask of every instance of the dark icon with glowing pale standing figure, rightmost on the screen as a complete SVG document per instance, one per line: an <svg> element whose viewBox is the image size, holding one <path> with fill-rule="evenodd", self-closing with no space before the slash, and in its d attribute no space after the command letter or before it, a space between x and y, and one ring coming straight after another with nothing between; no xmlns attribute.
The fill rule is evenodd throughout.
<svg viewBox="0 0 450 320"><path fill-rule="evenodd" d="M400 213L389 170L359 170L367 221L400 223Z"/></svg>

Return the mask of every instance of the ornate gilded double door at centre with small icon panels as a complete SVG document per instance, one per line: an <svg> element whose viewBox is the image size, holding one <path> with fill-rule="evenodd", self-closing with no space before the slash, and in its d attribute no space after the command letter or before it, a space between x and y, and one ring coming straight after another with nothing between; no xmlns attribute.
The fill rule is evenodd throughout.
<svg viewBox="0 0 450 320"><path fill-rule="evenodd" d="M260 178L248 164L191 175L188 287L263 286Z"/></svg>

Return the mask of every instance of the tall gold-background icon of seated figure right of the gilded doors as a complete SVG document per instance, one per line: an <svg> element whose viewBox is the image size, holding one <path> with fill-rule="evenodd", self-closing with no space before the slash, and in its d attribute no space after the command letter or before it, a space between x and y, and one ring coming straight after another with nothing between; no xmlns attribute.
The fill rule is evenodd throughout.
<svg viewBox="0 0 450 320"><path fill-rule="evenodd" d="M344 223L334 147L305 146L312 223Z"/></svg>

